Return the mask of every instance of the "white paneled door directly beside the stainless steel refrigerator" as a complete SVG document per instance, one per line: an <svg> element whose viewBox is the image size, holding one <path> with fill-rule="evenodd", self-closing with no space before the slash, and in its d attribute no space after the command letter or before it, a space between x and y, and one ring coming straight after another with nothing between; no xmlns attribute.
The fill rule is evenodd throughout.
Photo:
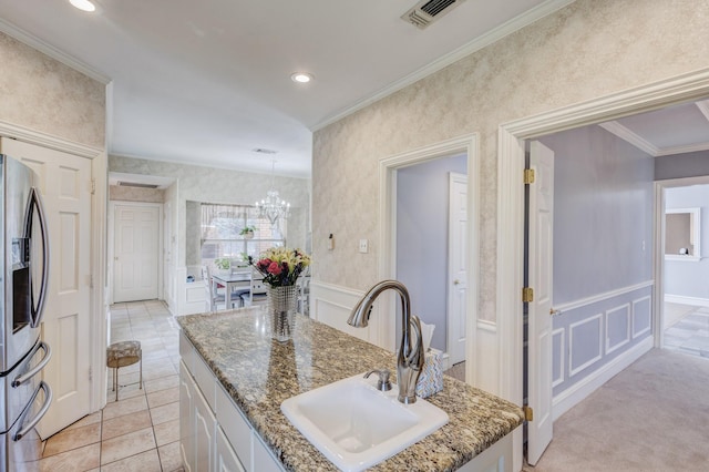
<svg viewBox="0 0 709 472"><path fill-rule="evenodd" d="M42 339L53 355L42 377L54 398L38 425L48 438L91 412L91 161L13 140L3 140L2 152L39 174L48 219Z"/></svg>

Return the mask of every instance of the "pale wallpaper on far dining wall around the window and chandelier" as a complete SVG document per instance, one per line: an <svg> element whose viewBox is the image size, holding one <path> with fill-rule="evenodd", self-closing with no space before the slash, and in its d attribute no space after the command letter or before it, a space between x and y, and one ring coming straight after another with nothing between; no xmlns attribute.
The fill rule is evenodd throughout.
<svg viewBox="0 0 709 472"><path fill-rule="evenodd" d="M266 196L270 187L270 174L228 171L160 161L109 156L109 172L174 177L177 193L177 266L186 260L186 202L254 204ZM280 196L290 202L288 218L288 245L306 247L309 218L310 181L279 177L274 183ZM172 195L172 193L171 193ZM167 196L167 193L166 193Z"/></svg>

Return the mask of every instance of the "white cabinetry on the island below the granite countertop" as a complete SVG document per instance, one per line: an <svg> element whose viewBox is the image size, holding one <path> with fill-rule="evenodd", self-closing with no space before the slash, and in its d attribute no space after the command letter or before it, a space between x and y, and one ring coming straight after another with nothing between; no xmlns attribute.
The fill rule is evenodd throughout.
<svg viewBox="0 0 709 472"><path fill-rule="evenodd" d="M179 450L185 471L282 471L184 335L179 353Z"/></svg>

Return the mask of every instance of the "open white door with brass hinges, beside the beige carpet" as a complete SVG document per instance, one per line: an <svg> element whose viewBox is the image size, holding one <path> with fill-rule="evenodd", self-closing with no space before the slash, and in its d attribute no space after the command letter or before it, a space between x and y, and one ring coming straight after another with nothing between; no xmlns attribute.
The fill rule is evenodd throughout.
<svg viewBox="0 0 709 472"><path fill-rule="evenodd" d="M528 404L534 419L527 424L527 461L534 465L552 441L552 288L554 236L554 152L538 141L531 143L530 167L530 287Z"/></svg>

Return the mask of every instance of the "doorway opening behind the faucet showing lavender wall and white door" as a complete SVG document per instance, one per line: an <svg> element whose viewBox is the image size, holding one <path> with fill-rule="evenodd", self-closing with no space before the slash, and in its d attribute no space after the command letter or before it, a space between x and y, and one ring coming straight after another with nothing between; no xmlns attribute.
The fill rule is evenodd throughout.
<svg viewBox="0 0 709 472"><path fill-rule="evenodd" d="M397 172L395 277L409 289L413 314L434 327L431 347L443 352L444 370L465 360L466 193L465 154Z"/></svg>

